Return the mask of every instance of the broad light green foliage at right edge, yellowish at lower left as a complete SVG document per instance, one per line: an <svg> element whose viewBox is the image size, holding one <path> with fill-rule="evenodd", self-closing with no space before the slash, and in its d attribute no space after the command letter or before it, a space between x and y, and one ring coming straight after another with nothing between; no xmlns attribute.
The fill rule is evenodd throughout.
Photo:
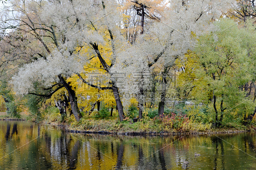
<svg viewBox="0 0 256 170"><path fill-rule="evenodd" d="M229 113L236 109L238 109L235 111L236 114L243 115L242 110L246 108L243 103L252 105L252 100L245 97L246 91L243 90L243 86L253 81L250 73L255 70L252 69L255 59L250 57L255 57L252 50L255 47L251 45L254 41L251 43L249 40L251 36L255 36L253 35L255 33L248 34L249 27L239 28L230 19L222 19L214 24L218 29L201 36L195 49L200 66L195 70L196 81L192 93L197 100L203 101L204 104L210 103L209 107L211 107L208 112L196 111L194 120L207 122L205 117L208 116L215 121L215 110L212 104L212 95L214 95L218 112L218 122L215 123L221 124L222 122L219 122L221 108L224 109L222 112L222 121L224 121L225 116L229 116ZM230 116L229 121L235 117Z"/></svg>

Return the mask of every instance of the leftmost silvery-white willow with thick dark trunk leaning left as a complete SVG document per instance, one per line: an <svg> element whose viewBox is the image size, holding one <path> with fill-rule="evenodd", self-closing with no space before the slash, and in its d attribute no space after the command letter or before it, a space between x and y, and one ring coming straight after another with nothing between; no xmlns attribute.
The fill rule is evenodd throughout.
<svg viewBox="0 0 256 170"><path fill-rule="evenodd" d="M8 35L11 32L21 35L23 45L28 43L31 51L37 52L30 53L36 61L24 65L12 78L12 83L14 90L20 94L34 92L36 82L40 82L43 88L52 89L50 94L65 87L73 114L79 121L81 114L77 107L76 94L66 82L66 78L83 67L84 60L80 58L79 52L73 53L76 51L78 41L70 37L71 32L77 34L79 30L72 29L77 24L74 20L68 22L67 18L65 24L57 26L56 21L51 16L47 16L51 3L48 1L8 1L1 8L1 33ZM72 3L68 2L68 5L72 6ZM74 10L68 13L74 18ZM33 37L33 42L29 41L31 37Z"/></svg>

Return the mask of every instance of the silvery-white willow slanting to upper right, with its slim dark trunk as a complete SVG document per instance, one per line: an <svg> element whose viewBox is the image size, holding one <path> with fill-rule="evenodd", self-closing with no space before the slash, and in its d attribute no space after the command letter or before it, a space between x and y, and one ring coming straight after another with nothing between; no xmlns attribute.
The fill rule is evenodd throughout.
<svg viewBox="0 0 256 170"><path fill-rule="evenodd" d="M132 3L142 17L143 9L148 7L150 10L149 5L143 3L152 4L153 1L132 1ZM221 16L221 12L227 12L230 3L231 1L228 0L214 2L211 0L171 1L161 12L161 16L155 16L155 22L149 24L147 29L143 29L143 34L137 36L137 40L132 44L132 50L125 54L127 57L120 59L124 66L123 69L141 73L140 78L134 79L134 81L139 82L140 86L145 88L146 82L143 80L143 74L151 72L155 63L160 63L162 78L166 80L177 57L182 57L188 49L195 46L196 37L194 35L199 36L209 29L212 21ZM153 13L151 14L149 15L152 17ZM142 21L143 17L140 22L143 28ZM120 70L122 66L116 66L116 68ZM130 72L130 74L132 73ZM164 112L166 83L163 81L162 89L159 90L161 91L159 115ZM142 94L143 88L140 86L133 91ZM139 100L143 101L144 96L140 96Z"/></svg>

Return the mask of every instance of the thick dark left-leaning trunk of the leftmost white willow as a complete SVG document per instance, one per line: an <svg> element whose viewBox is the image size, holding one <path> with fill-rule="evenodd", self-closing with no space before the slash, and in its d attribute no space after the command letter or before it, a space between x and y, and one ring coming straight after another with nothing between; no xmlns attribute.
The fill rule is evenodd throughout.
<svg viewBox="0 0 256 170"><path fill-rule="evenodd" d="M64 78L62 76L58 76L60 79L60 83L62 85L64 85L64 87L67 89L68 91L68 96L69 96L69 100L70 100L70 107L72 109L72 112L76 118L76 121L79 122L80 118L82 117L80 110L77 106L77 97L76 97L76 93L75 91L70 87L70 85L68 85L68 83L64 80Z"/></svg>

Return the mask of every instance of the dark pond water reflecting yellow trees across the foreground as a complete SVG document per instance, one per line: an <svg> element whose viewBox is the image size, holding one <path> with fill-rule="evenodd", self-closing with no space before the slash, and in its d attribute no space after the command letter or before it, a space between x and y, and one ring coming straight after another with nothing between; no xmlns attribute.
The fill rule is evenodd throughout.
<svg viewBox="0 0 256 170"><path fill-rule="evenodd" d="M74 134L0 121L0 169L256 169L256 134Z"/></svg>

